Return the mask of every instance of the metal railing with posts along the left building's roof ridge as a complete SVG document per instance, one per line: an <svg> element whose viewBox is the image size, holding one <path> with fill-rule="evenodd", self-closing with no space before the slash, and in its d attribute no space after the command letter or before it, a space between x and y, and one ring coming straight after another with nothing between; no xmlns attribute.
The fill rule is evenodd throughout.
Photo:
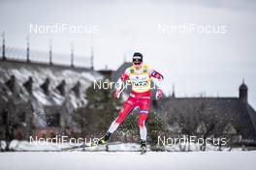
<svg viewBox="0 0 256 170"><path fill-rule="evenodd" d="M44 50L35 50L35 49L26 49L26 48L18 48L18 47L10 47L10 46L0 46L0 55L1 59L3 57L3 49L4 56L6 60L17 60L26 62L29 59L30 62L38 62L45 64L55 64L55 65L64 65L64 66L74 66L80 68L92 68L92 57L90 56L79 56L72 54L63 54L56 53ZM51 56L51 57L50 57ZM72 57L73 56L73 57Z"/></svg>

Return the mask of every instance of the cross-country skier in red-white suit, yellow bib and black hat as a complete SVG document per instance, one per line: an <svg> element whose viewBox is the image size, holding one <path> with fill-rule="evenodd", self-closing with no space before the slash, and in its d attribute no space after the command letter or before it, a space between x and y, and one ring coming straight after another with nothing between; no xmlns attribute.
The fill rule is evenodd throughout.
<svg viewBox="0 0 256 170"><path fill-rule="evenodd" d="M144 121L146 120L149 111L151 77L154 77L157 80L155 81L158 87L156 91L156 99L160 99L162 97L160 82L163 80L163 75L158 71L150 69L147 65L144 65L143 55L141 53L134 53L133 66L126 69L118 79L114 98L118 99L120 97L124 88L123 85L125 80L130 79L132 91L129 98L123 103L117 118L112 122L111 127L105 136L99 140L98 144L105 144L110 139L114 130L116 130L116 128L118 128L118 126L123 122L127 114L135 107L139 107L140 115L138 118L138 124L140 127L141 150L142 152L145 152L146 128L144 126Z"/></svg>

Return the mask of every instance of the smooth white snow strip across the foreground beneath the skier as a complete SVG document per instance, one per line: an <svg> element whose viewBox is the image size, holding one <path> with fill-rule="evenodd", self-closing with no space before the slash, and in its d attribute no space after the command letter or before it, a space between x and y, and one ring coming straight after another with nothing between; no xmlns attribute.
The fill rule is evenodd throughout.
<svg viewBox="0 0 256 170"><path fill-rule="evenodd" d="M17 152L0 153L1 170L240 170L254 169L256 152Z"/></svg>

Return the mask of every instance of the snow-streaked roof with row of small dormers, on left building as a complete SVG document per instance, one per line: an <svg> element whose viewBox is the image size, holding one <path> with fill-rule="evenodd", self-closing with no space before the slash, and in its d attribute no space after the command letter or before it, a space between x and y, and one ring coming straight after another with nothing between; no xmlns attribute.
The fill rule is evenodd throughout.
<svg viewBox="0 0 256 170"><path fill-rule="evenodd" d="M6 84L12 77L15 77L16 90L14 92ZM24 83L30 77L33 80L31 94L24 87ZM14 105L23 103L21 107L26 107L28 101L31 103L36 128L47 125L46 114L61 112L65 119L71 120L71 113L86 104L83 95L86 89L94 80L100 78L102 75L99 72L87 69L0 60L0 113L2 109L6 108L7 103L11 102L10 99L13 99ZM49 94L46 94L42 88L46 79L49 81ZM66 82L63 87L66 93L63 96L56 88L62 81ZM76 96L74 91L74 87L78 83L80 83L80 96ZM16 110L18 111L18 109Z"/></svg>

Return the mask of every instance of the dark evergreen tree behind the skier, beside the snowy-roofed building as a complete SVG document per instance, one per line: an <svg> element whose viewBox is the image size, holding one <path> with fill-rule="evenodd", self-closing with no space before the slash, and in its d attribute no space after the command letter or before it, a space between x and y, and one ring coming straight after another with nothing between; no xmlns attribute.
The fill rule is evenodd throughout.
<svg viewBox="0 0 256 170"><path fill-rule="evenodd" d="M103 82L109 82L103 79ZM92 84L85 92L87 104L75 111L74 121L79 125L82 135L102 135L112 123L120 109L120 99L113 98L113 90L100 89Z"/></svg>

